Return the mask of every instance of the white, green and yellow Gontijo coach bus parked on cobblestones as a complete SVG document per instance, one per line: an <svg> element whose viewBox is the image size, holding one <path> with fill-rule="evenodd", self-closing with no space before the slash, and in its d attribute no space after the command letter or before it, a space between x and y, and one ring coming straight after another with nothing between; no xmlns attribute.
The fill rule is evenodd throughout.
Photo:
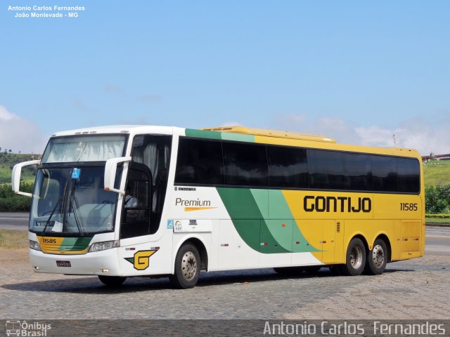
<svg viewBox="0 0 450 337"><path fill-rule="evenodd" d="M37 166L32 193L24 166ZM12 187L32 198L35 272L169 277L329 267L380 275L425 251L416 150L243 126L104 126L53 134ZM131 202L129 202L129 200Z"/></svg>

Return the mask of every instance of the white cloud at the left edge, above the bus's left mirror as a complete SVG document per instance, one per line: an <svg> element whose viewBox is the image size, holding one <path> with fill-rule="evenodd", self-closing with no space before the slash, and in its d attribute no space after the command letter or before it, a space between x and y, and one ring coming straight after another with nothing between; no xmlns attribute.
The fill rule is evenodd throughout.
<svg viewBox="0 0 450 337"><path fill-rule="evenodd" d="M42 153L47 141L36 122L25 119L0 105L0 147L22 153Z"/></svg>

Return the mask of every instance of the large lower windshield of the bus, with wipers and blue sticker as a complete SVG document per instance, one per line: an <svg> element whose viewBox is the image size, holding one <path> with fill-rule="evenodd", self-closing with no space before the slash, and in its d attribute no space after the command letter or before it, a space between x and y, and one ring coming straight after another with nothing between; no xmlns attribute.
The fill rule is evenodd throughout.
<svg viewBox="0 0 450 337"><path fill-rule="evenodd" d="M117 194L104 190L103 176L102 166L39 169L30 230L80 236L113 231Z"/></svg>

